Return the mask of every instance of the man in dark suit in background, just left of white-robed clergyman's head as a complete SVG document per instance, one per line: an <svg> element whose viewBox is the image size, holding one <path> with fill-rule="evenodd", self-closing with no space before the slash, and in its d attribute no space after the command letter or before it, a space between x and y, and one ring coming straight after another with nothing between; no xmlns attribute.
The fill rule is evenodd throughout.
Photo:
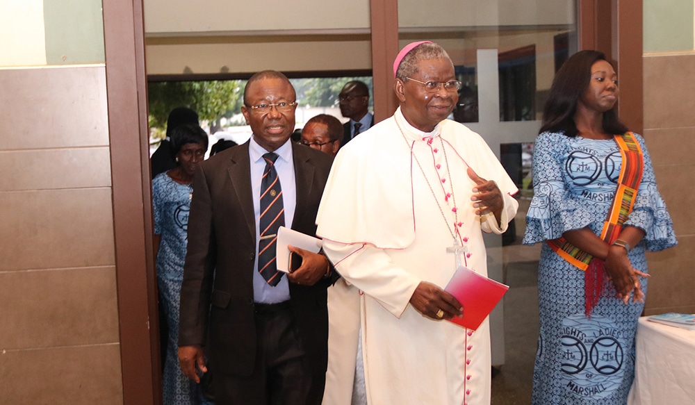
<svg viewBox="0 0 695 405"><path fill-rule="evenodd" d="M343 117L350 118L350 121L343 124L342 147L374 125L374 115L368 110L369 88L364 82L357 80L345 83L338 95L338 106Z"/></svg>

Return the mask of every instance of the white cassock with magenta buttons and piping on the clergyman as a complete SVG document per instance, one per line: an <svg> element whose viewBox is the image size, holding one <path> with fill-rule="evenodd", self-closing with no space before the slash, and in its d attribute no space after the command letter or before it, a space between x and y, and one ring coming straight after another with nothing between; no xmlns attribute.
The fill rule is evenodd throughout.
<svg viewBox="0 0 695 405"><path fill-rule="evenodd" d="M502 191L501 228L494 215L475 215L468 165ZM488 321L464 329L409 300L420 281L446 286L454 235L468 250L461 261L487 274L482 232L507 229L517 191L480 135L448 119L423 133L399 108L341 149L317 216L343 276L328 290L325 405L350 404L360 330L368 404L490 403Z"/></svg>

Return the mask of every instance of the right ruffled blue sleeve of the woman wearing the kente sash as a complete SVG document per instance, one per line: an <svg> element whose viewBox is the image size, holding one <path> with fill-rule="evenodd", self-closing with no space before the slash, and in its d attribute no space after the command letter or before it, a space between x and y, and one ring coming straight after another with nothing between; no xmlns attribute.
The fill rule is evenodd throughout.
<svg viewBox="0 0 695 405"><path fill-rule="evenodd" d="M642 239L648 251L660 251L678 244L676 233L673 231L671 215L666 209L666 203L657 190L654 168L647 151L644 138L635 134L644 156L644 172L639 183L639 191L635 199L632 213L624 226L636 226L644 230L646 235Z"/></svg>

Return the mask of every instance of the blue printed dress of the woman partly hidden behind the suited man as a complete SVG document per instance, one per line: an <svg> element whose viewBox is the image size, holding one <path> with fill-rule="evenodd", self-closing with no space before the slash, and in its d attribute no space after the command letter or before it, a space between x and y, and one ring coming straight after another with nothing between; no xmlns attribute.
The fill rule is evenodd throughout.
<svg viewBox="0 0 695 405"><path fill-rule="evenodd" d="M186 259L188 212L193 188L179 184L166 173L152 180L154 233L161 235L157 253L157 286L169 326L167 356L162 378L165 405L211 404L202 396L199 384L183 375L179 367L179 308L183 262Z"/></svg>

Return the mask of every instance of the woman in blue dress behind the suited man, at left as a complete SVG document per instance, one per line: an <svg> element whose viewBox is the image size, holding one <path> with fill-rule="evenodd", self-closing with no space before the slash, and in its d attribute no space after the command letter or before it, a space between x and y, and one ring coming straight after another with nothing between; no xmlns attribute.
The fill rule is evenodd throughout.
<svg viewBox="0 0 695 405"><path fill-rule="evenodd" d="M179 295L186 259L188 211L193 197L193 173L208 149L208 135L195 124L177 126L171 133L177 167L152 180L157 287L169 336L162 378L165 405L206 404L200 385L179 367Z"/></svg>

